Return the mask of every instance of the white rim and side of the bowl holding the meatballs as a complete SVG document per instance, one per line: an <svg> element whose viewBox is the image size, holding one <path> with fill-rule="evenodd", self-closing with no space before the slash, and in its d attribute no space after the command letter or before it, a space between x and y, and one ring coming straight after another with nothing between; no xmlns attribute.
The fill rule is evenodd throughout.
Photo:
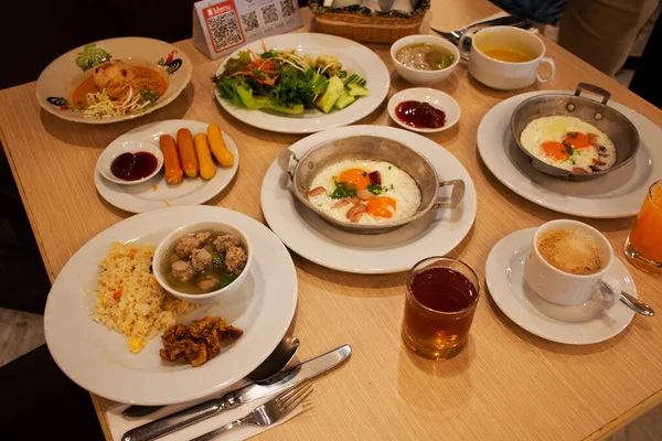
<svg viewBox="0 0 662 441"><path fill-rule="evenodd" d="M205 229L206 230L211 229L214 232L222 232L222 233L226 233L226 234L236 235L239 238L239 240L242 241L244 250L246 251L246 255L248 256L248 258L246 260L246 266L244 267L244 270L242 271L239 277L237 277L235 280L233 280L232 283L229 283L228 286L223 287L216 291L207 292L206 294L186 294L186 293L180 292L180 291L175 290L174 288L172 288L170 284L168 284L168 282L166 281L166 279L162 275L162 270L163 270L162 261L163 261L163 258L166 257L166 252L169 250L170 246L172 244L174 244L177 240L179 240L180 238L182 238L186 235L190 235L191 233L196 233L196 232L201 232L201 230L205 230ZM157 247L157 250L154 251L154 258L152 260L152 271L154 273L154 277L157 278L157 282L159 282L159 284L166 291L170 292L172 295L177 297L178 299L185 300L186 302L196 303L196 304L214 304L214 303L217 303L223 297L226 297L229 293L236 292L242 287L244 281L246 281L248 271L250 271L252 262L253 262L253 247L250 246L250 240L248 239L248 236L246 236L246 234L244 232L242 232L237 226L226 224L223 222L197 222L195 224L189 224L189 225L179 227L178 229L175 229L174 232L172 232L168 236L166 236L166 238L163 240L161 240L161 243Z"/></svg>

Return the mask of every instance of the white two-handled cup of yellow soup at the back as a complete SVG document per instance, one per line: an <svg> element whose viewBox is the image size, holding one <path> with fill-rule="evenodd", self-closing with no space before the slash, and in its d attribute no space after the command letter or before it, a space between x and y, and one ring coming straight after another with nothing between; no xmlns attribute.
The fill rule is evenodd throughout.
<svg viewBox="0 0 662 441"><path fill-rule="evenodd" d="M471 45L467 39L471 39ZM458 47L462 57L469 60L469 73L494 89L519 89L536 80L547 83L556 73L554 60L544 56L543 41L520 28L492 26L466 32ZM540 74L543 63L549 65L548 76Z"/></svg>

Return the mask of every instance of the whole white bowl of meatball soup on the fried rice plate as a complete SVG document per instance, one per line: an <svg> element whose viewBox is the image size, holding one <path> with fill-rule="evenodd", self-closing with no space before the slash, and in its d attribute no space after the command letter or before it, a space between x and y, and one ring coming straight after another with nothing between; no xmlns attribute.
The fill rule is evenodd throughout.
<svg viewBox="0 0 662 441"><path fill-rule="evenodd" d="M152 271L172 295L212 304L241 288L250 261L250 243L239 228L203 222L169 234L157 247Z"/></svg>

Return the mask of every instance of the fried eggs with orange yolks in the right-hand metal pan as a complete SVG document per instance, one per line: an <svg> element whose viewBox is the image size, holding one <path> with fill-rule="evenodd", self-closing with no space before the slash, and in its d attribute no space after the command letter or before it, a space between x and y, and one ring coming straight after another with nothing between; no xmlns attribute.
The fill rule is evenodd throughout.
<svg viewBox="0 0 662 441"><path fill-rule="evenodd" d="M522 131L520 142L541 161L574 173L607 170L617 160L609 137L575 117L534 119Z"/></svg>

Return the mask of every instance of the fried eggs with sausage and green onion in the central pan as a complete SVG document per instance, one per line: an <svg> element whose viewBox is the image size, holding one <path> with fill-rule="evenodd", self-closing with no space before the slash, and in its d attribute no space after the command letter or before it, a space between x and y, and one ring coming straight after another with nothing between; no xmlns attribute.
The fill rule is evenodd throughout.
<svg viewBox="0 0 662 441"><path fill-rule="evenodd" d="M416 181L392 163L344 160L320 171L308 198L332 218L362 225L382 225L409 218L421 196Z"/></svg>

